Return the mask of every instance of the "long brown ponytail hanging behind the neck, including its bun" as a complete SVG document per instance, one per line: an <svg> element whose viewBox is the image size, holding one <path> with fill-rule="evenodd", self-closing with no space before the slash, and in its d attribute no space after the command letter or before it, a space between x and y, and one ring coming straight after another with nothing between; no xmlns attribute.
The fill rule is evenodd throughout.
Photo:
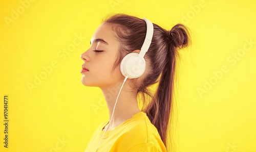
<svg viewBox="0 0 256 152"><path fill-rule="evenodd" d="M174 77L177 48L188 45L187 29L182 24L176 24L170 31L164 31L166 36L166 60L160 75L159 85L151 103L145 108L145 113L156 126L163 143L166 146L170 111L173 106Z"/></svg>

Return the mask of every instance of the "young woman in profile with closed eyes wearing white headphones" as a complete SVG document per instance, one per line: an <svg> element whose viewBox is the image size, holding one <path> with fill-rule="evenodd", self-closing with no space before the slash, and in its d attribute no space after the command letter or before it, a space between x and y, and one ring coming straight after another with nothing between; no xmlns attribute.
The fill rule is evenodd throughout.
<svg viewBox="0 0 256 152"><path fill-rule="evenodd" d="M122 68L126 65L120 69L122 59L130 53L138 56L144 41L151 43L145 44L149 48L143 56L142 75L125 77ZM177 50L188 42L189 34L182 24L167 31L149 20L125 14L102 22L91 38L91 47L81 55L81 82L102 90L110 120L99 125L86 151L166 151ZM153 95L149 87L155 83L159 84ZM142 97L141 109L138 95Z"/></svg>

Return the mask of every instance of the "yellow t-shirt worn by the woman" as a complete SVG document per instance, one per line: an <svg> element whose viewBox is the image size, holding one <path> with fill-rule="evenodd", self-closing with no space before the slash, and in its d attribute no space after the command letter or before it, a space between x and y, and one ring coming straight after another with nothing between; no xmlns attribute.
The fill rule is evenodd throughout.
<svg viewBox="0 0 256 152"><path fill-rule="evenodd" d="M99 125L87 145L86 152L96 150L104 133L102 129L108 122ZM139 112L116 126L114 130L106 131L97 151L166 151L166 147L147 115Z"/></svg>

